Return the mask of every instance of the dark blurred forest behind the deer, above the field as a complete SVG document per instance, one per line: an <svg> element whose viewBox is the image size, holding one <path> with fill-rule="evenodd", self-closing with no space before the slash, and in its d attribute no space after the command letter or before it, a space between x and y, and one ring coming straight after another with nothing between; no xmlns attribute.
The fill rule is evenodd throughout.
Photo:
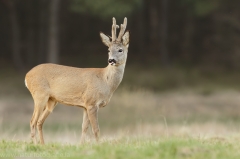
<svg viewBox="0 0 240 159"><path fill-rule="evenodd" d="M120 24L126 16L128 63L236 70L239 5L238 0L0 0L0 67L22 71L44 62L85 66L86 56L106 59L99 31L110 34L112 17Z"/></svg>

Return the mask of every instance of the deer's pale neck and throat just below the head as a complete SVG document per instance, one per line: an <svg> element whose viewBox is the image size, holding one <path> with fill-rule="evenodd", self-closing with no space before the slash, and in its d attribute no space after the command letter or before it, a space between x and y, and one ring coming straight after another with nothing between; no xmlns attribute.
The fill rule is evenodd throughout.
<svg viewBox="0 0 240 159"><path fill-rule="evenodd" d="M110 90L114 92L122 81L125 69L125 63L119 66L108 65L105 68L105 79Z"/></svg>

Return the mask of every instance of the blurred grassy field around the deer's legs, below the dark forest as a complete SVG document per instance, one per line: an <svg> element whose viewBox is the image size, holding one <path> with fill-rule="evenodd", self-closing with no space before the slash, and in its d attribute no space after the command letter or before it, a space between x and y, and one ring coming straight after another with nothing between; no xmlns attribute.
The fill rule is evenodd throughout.
<svg viewBox="0 0 240 159"><path fill-rule="evenodd" d="M240 158L238 75L145 70L138 79L134 69L99 111L100 143L89 130L80 145L82 109L58 105L43 126L44 146L30 141L24 75L0 71L0 157Z"/></svg>

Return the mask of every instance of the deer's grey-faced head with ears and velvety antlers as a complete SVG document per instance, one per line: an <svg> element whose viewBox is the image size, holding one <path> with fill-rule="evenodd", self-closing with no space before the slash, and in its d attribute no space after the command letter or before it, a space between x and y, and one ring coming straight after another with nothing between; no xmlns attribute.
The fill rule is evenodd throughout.
<svg viewBox="0 0 240 159"><path fill-rule="evenodd" d="M129 31L125 32L126 27L127 18L124 18L124 22L121 24L120 32L117 37L117 29L119 26L116 24L116 19L113 18L112 37L102 32L100 33L103 44L108 47L108 63L112 66L119 66L126 63L130 36Z"/></svg>

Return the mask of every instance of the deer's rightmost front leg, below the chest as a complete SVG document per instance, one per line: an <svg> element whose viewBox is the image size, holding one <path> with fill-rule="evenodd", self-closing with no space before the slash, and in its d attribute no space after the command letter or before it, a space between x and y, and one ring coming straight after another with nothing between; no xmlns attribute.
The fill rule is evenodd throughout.
<svg viewBox="0 0 240 159"><path fill-rule="evenodd" d="M90 120L92 131L95 136L96 141L99 140L100 129L98 126L98 107L97 106L89 106L87 108L88 118Z"/></svg>

